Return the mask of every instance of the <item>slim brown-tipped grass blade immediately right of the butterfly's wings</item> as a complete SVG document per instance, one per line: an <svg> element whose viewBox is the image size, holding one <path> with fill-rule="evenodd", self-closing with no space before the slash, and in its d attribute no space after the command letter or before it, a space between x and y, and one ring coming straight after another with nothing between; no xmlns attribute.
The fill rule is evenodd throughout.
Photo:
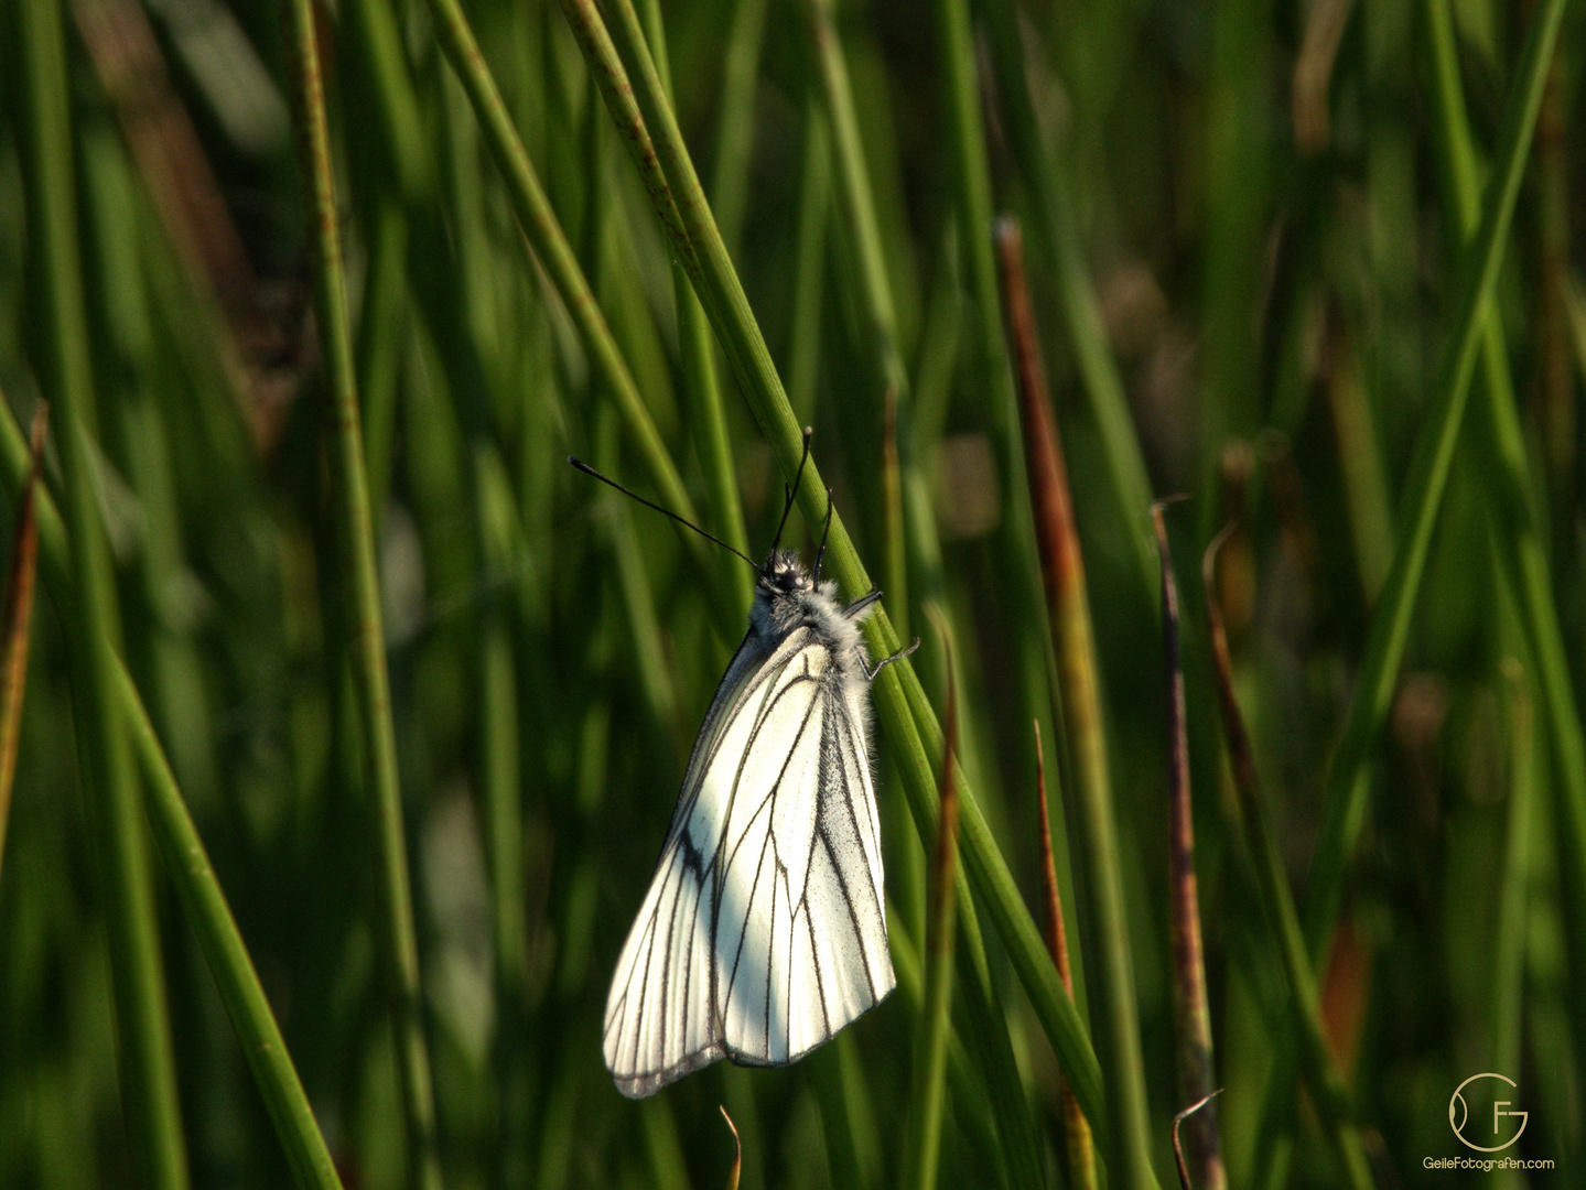
<svg viewBox="0 0 1586 1190"><path fill-rule="evenodd" d="M942 642L942 669L947 673L947 754L942 757L942 811L936 819L936 849L931 867L929 908L926 910L926 986L923 1028L915 1041L914 1127L909 1133L902 1185L906 1190L933 1190L942 1149L942 1109L947 1076L947 1032L953 997L953 917L956 916L958 794L953 789L953 753L958 746L958 692L953 680L953 651L947 621L931 605L926 612Z"/></svg>

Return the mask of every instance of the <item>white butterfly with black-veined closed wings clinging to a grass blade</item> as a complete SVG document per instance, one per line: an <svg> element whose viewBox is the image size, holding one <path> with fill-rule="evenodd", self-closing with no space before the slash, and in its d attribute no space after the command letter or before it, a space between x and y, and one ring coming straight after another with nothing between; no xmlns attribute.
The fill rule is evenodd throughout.
<svg viewBox="0 0 1586 1190"><path fill-rule="evenodd" d="M796 1062L896 984L869 762L869 683L896 658L871 667L858 629L880 593L837 604L820 555L758 569L606 997L630 1098L722 1057Z"/></svg>

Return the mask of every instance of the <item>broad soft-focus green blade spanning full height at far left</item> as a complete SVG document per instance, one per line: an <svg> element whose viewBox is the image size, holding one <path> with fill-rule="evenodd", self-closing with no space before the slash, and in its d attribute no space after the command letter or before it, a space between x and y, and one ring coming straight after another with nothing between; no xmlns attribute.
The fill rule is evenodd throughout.
<svg viewBox="0 0 1586 1190"><path fill-rule="evenodd" d="M95 491L94 376L78 250L75 141L65 35L57 0L27 0L21 32L29 249L43 295L43 388L56 412L67 521L71 526L71 685L94 867L109 935L122 1109L132 1166L146 1185L184 1190L187 1147L165 994L154 881L127 721L116 691L121 618L109 544ZM8 14L11 16L11 14Z"/></svg>

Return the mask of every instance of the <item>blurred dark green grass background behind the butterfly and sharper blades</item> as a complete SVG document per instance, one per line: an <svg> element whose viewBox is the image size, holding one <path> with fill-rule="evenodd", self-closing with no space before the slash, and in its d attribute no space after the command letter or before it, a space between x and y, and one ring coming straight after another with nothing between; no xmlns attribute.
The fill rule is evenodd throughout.
<svg viewBox="0 0 1586 1190"><path fill-rule="evenodd" d="M1523 40L1548 8L660 10L679 124L731 261L893 623L925 639L915 667L939 707L945 654L926 607L950 624L964 772L1039 921L1032 719L1055 799L1071 773L980 212L1023 219L1085 551L1163 1185L1175 1180L1172 1114L1186 1104L1148 504L1191 496L1167 521L1229 1184L1339 1185L1297 1085L1275 1097L1277 1123L1262 1114L1294 1038L1239 843L1199 558L1239 521L1221 602L1280 854L1304 898L1373 610L1408 548L1421 491L1412 458L1451 387L1440 361L1470 292L1472 201L1494 203L1481 185L1507 144ZM6 417L25 426L44 398L52 433L65 425L49 314L62 257L30 181L49 158L75 176L63 227L79 244L86 341L68 350L89 369L84 458L113 564L116 646L344 1184L419 1184L381 960L379 799L358 726L358 615L338 531L290 38L274 5L62 6L67 127L51 124L35 86L46 11L56 0L0 13ZM744 1138L744 1187L895 1184L920 1019L901 992L785 1070L717 1065L634 1104L603 1066L607 981L737 643L750 575L565 464L576 453L669 496L550 273L525 250L435 11L339 0L316 17L439 1171L450 1187L725 1185L725 1104ZM955 27L955 13L971 24ZM546 0L473 0L466 16L696 515L758 555L785 472L741 382L699 338L698 306L679 301L676 254L568 19ZM1508 1152L1557 1161L1529 1182L1491 1177L1586 1176L1586 922L1569 913L1580 860L1569 807L1586 791L1569 770L1580 719L1553 715L1586 696L1586 162L1572 152L1586 117L1583 49L1575 5L1543 63L1499 239L1488 355L1434 501L1402 664L1370 737L1369 808L1318 970L1381 1187L1453 1177L1424 1171L1423 1157L1462 1152L1448 1095L1484 1070L1515 1077L1530 1111ZM966 151L966 113L983 162ZM699 344L722 390L715 439ZM1518 472L1496 461L1497 433L1478 412L1489 393L1518 414ZM70 488L62 466L51 448L57 493ZM809 558L809 526L793 523ZM1516 564L1521 539L1530 553ZM3 1187L133 1185L130 1154L144 1144L117 1081L119 917L106 910L102 811L79 778L94 702L71 681L81 620L68 604L49 589L35 608L0 860ZM1553 618L1551 637L1535 635L1538 616ZM912 955L917 986L931 840L914 830L898 746L877 732L895 951ZM1061 813L1055 824L1061 833ZM192 1184L285 1184L168 852L143 846ZM1086 891L1069 876L1071 846L1059 837L1083 967L1098 943L1075 908ZM988 1119L972 1052L966 1081L950 1085L940 1184L1071 1184L1056 1058L999 935L985 936L1039 1163L1007 1155L998 1138L1012 1125ZM1080 1009L1098 1013L1083 994ZM974 1051L963 1005L955 1019Z"/></svg>

